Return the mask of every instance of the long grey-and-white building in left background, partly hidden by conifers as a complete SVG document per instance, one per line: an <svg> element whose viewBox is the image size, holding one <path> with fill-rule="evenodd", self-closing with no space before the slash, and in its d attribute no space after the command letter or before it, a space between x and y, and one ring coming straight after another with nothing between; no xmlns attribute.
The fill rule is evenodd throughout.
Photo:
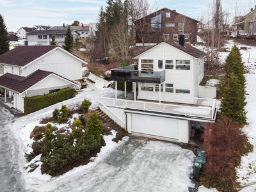
<svg viewBox="0 0 256 192"><path fill-rule="evenodd" d="M42 30L42 31L31 31L27 33L28 45L50 45L52 41L52 33L55 35L55 42L57 45L63 45L65 40L65 35L67 30ZM79 38L80 34L77 31L72 31L71 33L74 38L74 42L76 38Z"/></svg>

